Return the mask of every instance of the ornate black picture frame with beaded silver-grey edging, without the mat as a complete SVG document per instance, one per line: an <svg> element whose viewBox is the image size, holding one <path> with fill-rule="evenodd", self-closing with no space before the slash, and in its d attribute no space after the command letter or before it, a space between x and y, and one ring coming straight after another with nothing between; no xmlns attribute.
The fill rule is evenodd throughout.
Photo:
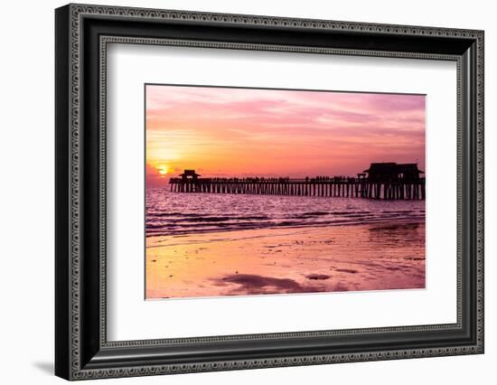
<svg viewBox="0 0 497 385"><path fill-rule="evenodd" d="M483 32L66 5L55 12L55 373L67 380L483 353ZM457 64L457 322L108 342L109 42Z"/></svg>

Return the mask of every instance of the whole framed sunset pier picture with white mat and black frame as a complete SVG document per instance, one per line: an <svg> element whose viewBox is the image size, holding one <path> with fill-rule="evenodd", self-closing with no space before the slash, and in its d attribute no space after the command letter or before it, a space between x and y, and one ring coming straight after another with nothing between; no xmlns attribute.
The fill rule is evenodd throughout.
<svg viewBox="0 0 497 385"><path fill-rule="evenodd" d="M55 11L55 372L483 353L483 31Z"/></svg>

